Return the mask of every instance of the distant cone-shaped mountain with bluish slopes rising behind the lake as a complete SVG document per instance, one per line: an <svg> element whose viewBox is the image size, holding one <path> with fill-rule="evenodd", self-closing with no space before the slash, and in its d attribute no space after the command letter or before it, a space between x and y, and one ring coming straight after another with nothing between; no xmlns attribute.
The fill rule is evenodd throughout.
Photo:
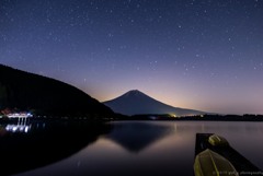
<svg viewBox="0 0 263 176"><path fill-rule="evenodd" d="M123 115L173 114L175 116L203 115L204 112L179 108L159 102L138 90L129 91L122 96L104 102L104 105Z"/></svg>

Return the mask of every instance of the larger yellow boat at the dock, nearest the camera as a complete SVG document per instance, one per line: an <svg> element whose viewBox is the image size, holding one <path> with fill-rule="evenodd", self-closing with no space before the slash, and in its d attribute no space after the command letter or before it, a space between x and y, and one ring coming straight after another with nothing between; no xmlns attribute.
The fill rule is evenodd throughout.
<svg viewBox="0 0 263 176"><path fill-rule="evenodd" d="M209 149L196 155L194 173L195 176L239 176L227 159Z"/></svg>

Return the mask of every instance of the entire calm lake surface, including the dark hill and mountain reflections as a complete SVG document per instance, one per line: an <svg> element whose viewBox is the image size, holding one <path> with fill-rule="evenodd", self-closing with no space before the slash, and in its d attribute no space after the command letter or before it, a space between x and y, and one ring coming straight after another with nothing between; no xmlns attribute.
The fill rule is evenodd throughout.
<svg viewBox="0 0 263 176"><path fill-rule="evenodd" d="M196 132L224 136L232 148L263 168L262 122L58 122L38 124L37 128L35 124L27 132L7 132L2 127L0 150L5 150L5 156L1 157L4 169L0 173L193 176Z"/></svg>

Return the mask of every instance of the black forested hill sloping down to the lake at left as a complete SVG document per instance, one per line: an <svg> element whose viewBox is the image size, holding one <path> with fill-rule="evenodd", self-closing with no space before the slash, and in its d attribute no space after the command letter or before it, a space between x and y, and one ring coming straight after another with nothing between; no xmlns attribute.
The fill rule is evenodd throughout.
<svg viewBox="0 0 263 176"><path fill-rule="evenodd" d="M113 114L108 107L69 84L0 64L0 110L5 108L56 116Z"/></svg>

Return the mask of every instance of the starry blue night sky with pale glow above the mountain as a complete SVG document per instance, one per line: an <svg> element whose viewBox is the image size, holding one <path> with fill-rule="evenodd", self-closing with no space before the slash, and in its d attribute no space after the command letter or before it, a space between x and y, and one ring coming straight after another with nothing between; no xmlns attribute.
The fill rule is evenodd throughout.
<svg viewBox="0 0 263 176"><path fill-rule="evenodd" d="M99 101L263 114L263 0L0 0L0 63Z"/></svg>

